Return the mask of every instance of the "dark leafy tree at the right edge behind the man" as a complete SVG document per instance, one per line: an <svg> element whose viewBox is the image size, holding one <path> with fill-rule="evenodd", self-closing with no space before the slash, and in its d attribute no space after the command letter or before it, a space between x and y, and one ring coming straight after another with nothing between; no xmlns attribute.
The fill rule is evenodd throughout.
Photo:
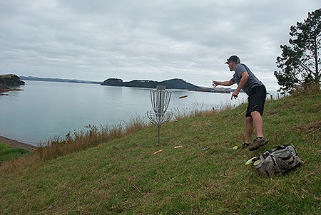
<svg viewBox="0 0 321 215"><path fill-rule="evenodd" d="M276 61L280 68L274 72L278 91L291 93L297 87L307 89L313 84L320 88L321 9L309 12L303 23L291 26L290 36L290 46L280 46L282 55Z"/></svg>

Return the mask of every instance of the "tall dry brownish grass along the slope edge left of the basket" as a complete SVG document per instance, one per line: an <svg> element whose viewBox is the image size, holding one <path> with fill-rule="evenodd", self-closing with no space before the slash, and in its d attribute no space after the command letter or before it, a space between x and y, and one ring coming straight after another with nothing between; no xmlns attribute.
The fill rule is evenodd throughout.
<svg viewBox="0 0 321 215"><path fill-rule="evenodd" d="M121 121L116 125L87 125L85 130L68 132L65 137L53 137L47 142L39 144L39 148L29 156L11 159L1 163L0 173L24 172L24 168L37 168L41 161L45 162L66 154L86 150L101 143L116 140L132 132L142 130L148 123L144 117L131 117L129 122Z"/></svg>

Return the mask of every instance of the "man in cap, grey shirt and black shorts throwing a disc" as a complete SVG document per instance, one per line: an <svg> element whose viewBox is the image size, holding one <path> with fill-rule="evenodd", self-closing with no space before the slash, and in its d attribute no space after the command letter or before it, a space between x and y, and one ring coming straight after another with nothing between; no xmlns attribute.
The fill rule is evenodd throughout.
<svg viewBox="0 0 321 215"><path fill-rule="evenodd" d="M263 109L266 98L266 89L258 78L251 72L247 65L240 63L238 56L230 56L225 64L228 64L230 71L235 71L233 78L227 81L213 80L213 87L218 85L230 86L235 83L238 88L232 93L230 99L238 98L238 93L243 90L248 95L248 109L245 115L246 140L242 148L249 147L250 151L267 144L268 140L263 135ZM252 142L252 133L254 130L253 122L256 129L256 139Z"/></svg>

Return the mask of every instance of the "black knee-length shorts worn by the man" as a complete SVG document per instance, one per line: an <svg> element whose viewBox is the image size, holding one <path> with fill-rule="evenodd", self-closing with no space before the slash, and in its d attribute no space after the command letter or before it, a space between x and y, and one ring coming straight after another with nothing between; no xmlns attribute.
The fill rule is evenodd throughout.
<svg viewBox="0 0 321 215"><path fill-rule="evenodd" d="M251 112L258 111L263 115L264 104L266 99L266 88L264 85L254 87L250 90L248 95L248 109L245 117L252 117Z"/></svg>

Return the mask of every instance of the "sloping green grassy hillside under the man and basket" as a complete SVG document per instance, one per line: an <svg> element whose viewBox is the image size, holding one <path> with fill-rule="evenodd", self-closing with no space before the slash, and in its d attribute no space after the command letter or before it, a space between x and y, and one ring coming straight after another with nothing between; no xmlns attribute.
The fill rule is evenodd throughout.
<svg viewBox="0 0 321 215"><path fill-rule="evenodd" d="M160 147L151 126L16 171L3 167L0 214L320 213L321 93L267 101L270 142L254 152L233 150L245 140L245 108L169 122ZM302 167L267 178L245 166L280 144L297 147Z"/></svg>

